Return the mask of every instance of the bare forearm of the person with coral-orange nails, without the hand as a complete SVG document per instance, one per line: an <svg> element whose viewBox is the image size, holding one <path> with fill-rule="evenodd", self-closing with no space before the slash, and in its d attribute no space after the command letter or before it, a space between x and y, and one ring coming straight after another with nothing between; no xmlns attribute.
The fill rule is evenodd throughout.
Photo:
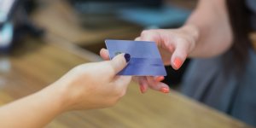
<svg viewBox="0 0 256 128"><path fill-rule="evenodd" d="M184 27L195 33L189 57L211 57L230 48L232 32L224 0L201 0Z"/></svg>

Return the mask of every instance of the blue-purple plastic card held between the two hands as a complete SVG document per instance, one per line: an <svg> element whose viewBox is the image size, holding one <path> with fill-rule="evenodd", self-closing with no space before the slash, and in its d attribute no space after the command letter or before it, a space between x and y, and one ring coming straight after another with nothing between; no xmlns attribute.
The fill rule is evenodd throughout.
<svg viewBox="0 0 256 128"><path fill-rule="evenodd" d="M166 76L166 68L154 42L107 39L105 43L110 59L119 53L131 55L127 67L119 75Z"/></svg>

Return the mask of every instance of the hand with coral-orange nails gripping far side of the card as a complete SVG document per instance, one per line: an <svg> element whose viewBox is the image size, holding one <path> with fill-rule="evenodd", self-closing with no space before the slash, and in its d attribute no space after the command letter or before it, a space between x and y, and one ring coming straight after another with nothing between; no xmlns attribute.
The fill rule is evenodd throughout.
<svg viewBox="0 0 256 128"><path fill-rule="evenodd" d="M165 65L172 65L178 69L183 65L189 53L195 48L198 32L194 26L183 26L179 29L158 29L143 31L137 41L153 41L160 49L160 55ZM108 50L102 49L100 55L104 60L109 60ZM169 86L161 83L163 76L159 77L134 77L140 84L140 90L144 93L148 87L153 90L160 90L163 93L169 92Z"/></svg>

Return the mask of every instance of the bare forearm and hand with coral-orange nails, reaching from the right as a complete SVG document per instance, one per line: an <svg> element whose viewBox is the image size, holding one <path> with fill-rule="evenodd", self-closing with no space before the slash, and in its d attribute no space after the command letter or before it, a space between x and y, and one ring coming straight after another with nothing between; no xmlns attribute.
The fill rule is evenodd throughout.
<svg viewBox="0 0 256 128"><path fill-rule="evenodd" d="M145 30L137 41L153 41L166 66L178 70L186 58L209 58L223 54L232 45L232 32L225 0L200 0L189 20L177 29ZM108 60L108 50L101 56ZM166 84L153 77L135 77L144 93L148 87L168 92Z"/></svg>

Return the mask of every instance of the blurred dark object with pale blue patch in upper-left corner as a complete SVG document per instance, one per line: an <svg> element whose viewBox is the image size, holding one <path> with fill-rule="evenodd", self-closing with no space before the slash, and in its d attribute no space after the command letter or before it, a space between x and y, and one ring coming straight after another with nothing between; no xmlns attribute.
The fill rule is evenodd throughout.
<svg viewBox="0 0 256 128"><path fill-rule="evenodd" d="M0 0L0 54L9 54L27 35L34 38L44 35L44 30L29 17L35 6L34 0Z"/></svg>

